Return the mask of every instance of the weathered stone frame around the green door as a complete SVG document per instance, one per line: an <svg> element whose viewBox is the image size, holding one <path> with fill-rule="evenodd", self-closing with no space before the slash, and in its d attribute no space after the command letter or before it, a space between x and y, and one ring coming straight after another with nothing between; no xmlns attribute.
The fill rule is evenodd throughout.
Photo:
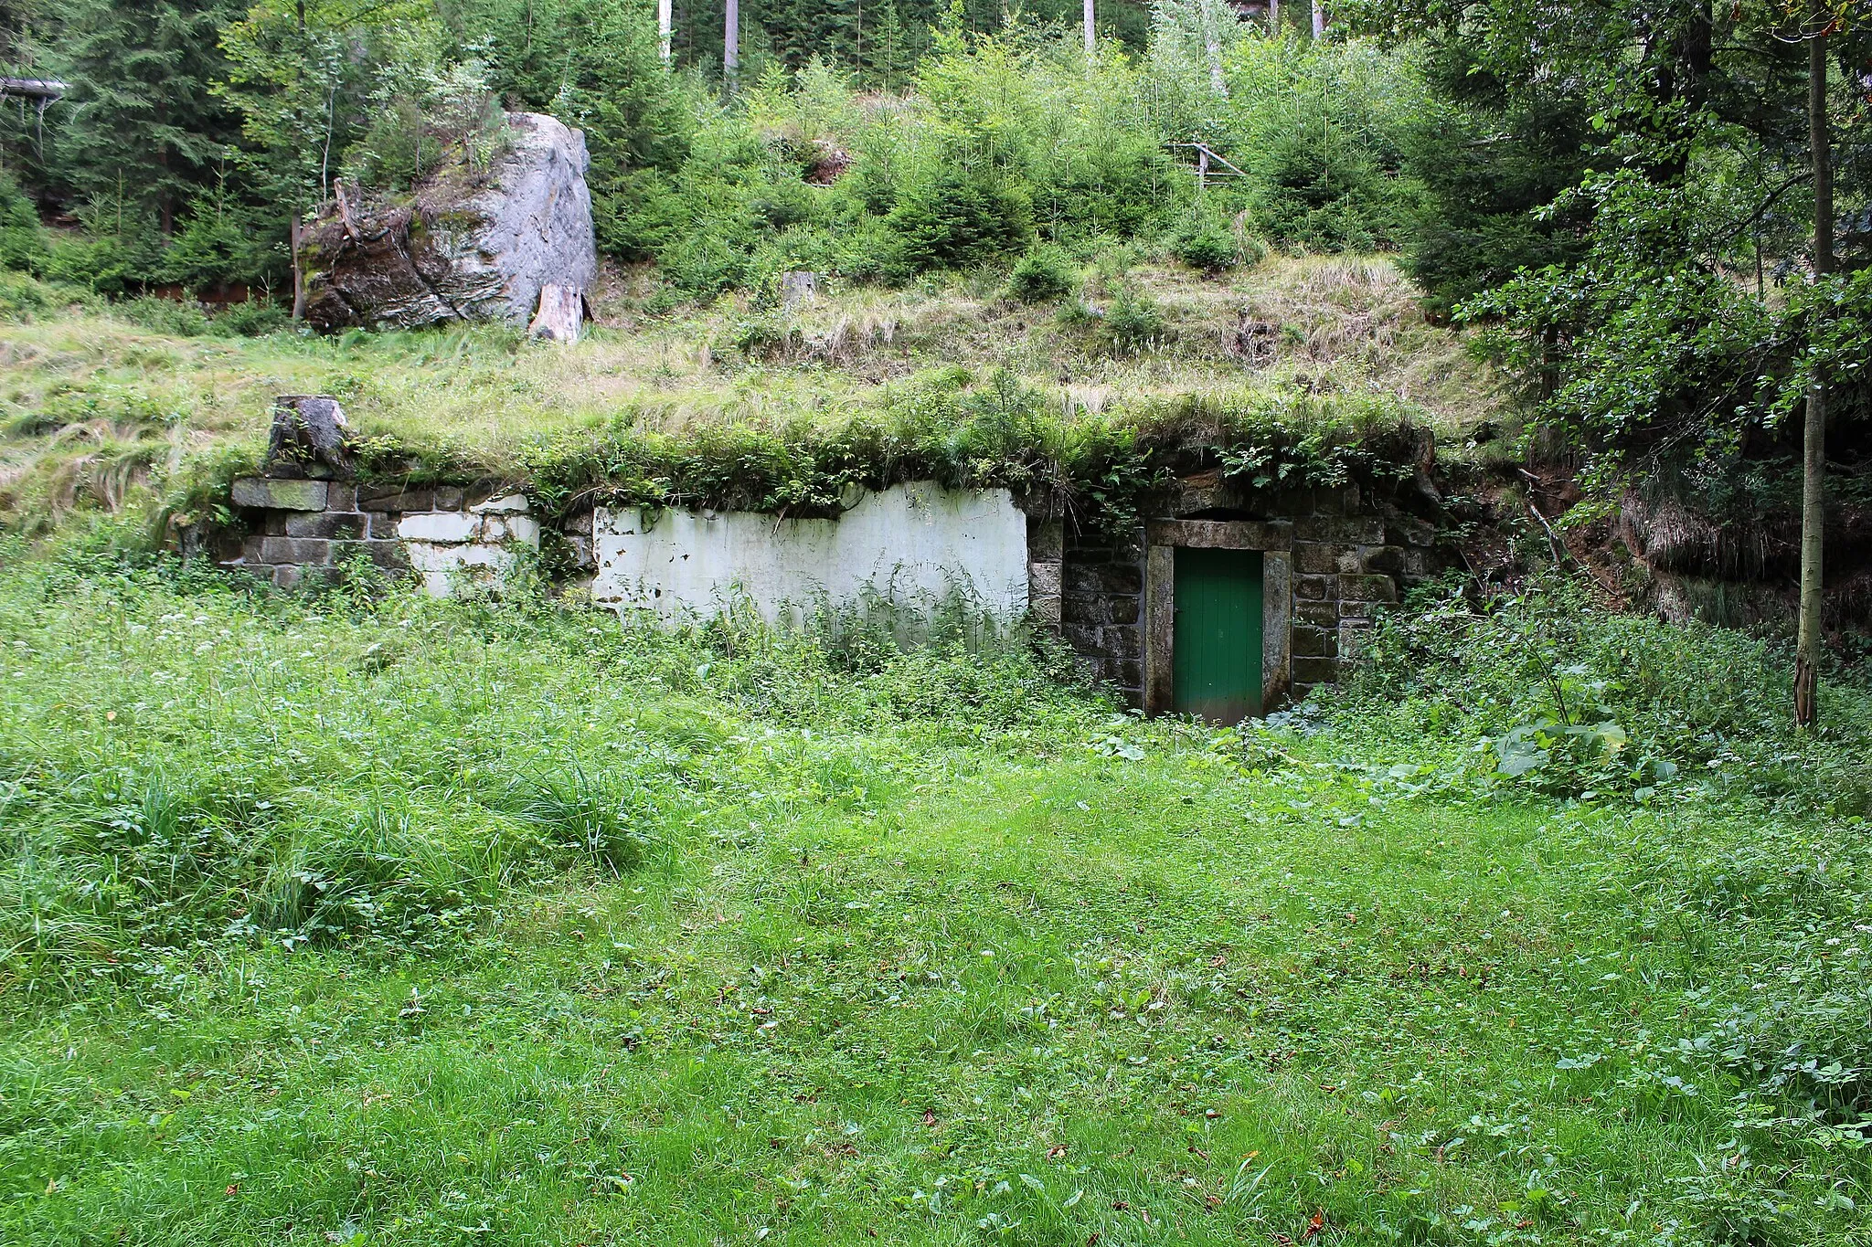
<svg viewBox="0 0 1872 1247"><path fill-rule="evenodd" d="M1149 520L1144 525L1144 712L1166 714L1176 671L1176 552L1262 555L1262 714L1288 699L1294 671L1294 523L1288 520Z"/></svg>

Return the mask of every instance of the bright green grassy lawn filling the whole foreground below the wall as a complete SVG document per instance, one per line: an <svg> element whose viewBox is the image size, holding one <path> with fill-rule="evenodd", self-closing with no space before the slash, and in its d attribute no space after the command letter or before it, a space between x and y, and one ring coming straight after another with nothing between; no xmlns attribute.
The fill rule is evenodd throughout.
<svg viewBox="0 0 1872 1247"><path fill-rule="evenodd" d="M11 553L0 1241L1866 1241L1718 1060L1865 914L1687 905L1760 817Z"/></svg>

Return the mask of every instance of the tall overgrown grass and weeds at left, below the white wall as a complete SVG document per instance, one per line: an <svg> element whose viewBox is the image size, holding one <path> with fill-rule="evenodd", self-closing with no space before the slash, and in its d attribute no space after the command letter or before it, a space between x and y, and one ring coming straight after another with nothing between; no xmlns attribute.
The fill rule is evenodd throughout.
<svg viewBox="0 0 1872 1247"><path fill-rule="evenodd" d="M515 886L666 864L736 767L693 694L803 724L1091 712L1018 638L665 634L524 596L281 600L163 559L21 553L0 991L64 996L227 939L442 953Z"/></svg>

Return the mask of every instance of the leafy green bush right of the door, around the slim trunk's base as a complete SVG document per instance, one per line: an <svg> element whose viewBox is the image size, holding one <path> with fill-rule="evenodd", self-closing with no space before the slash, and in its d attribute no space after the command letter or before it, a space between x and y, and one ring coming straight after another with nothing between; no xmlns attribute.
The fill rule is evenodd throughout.
<svg viewBox="0 0 1872 1247"><path fill-rule="evenodd" d="M1872 695L1827 684L1825 729L1788 710L1792 662L1741 632L1608 611L1552 580L1471 604L1423 591L1385 619L1335 703L1346 731L1468 738L1484 787L1681 785L1859 815L1872 808ZM1382 727L1378 727L1382 724Z"/></svg>

